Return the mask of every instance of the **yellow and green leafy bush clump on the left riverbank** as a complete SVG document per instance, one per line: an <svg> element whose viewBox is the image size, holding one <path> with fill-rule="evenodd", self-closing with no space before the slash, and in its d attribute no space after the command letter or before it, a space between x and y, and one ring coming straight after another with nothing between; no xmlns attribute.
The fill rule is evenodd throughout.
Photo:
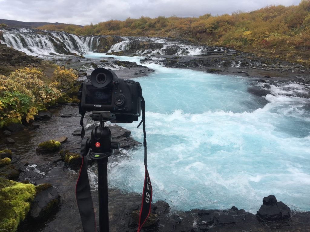
<svg viewBox="0 0 310 232"><path fill-rule="evenodd" d="M0 75L0 127L9 122L27 122L38 110L55 104L61 96L58 88L69 86L77 76L72 69L56 66L53 78L48 78L37 68L22 68L9 76ZM60 84L61 83L61 84Z"/></svg>

